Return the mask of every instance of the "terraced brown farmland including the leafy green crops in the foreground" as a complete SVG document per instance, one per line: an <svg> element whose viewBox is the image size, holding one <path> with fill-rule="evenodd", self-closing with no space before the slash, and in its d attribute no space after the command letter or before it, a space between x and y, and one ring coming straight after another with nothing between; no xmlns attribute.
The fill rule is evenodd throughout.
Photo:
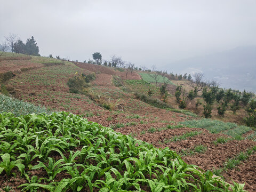
<svg viewBox="0 0 256 192"><path fill-rule="evenodd" d="M51 65L23 71L5 82L6 88L20 100L44 106L47 111L69 111L81 117L57 113L45 116L21 116L18 120L10 114L1 115L0 129L3 131L1 134L3 137L0 137L0 141L4 150L2 149L0 160L3 162L5 158L8 161L9 156L5 155L8 153L10 162L22 162L25 167L20 166L20 169L14 167L10 173L13 172L18 176L9 181L5 181L6 171L2 170L0 188L3 189L8 185L15 188L15 191L22 188L29 190L44 188L50 191L57 189L60 191L110 191L111 189L170 191L173 187L174 191L196 191L195 188L202 191L206 181L216 187L220 187L220 183L223 183L218 178L212 178L211 173L207 172L212 171L230 184L233 184L232 180L234 180L245 183L245 189L248 191L256 190L254 179L256 170L252 164L256 142L255 132L250 127L209 121L185 110L153 107L135 99L133 93L135 90L141 90L147 94L147 90L151 87L153 96L157 98L159 97L157 86L148 83L139 84L138 81L142 82L140 79L120 82L123 83L120 87L114 86L113 78L109 78L110 74L104 75L103 70L90 83L87 94L70 93L67 86L69 77L74 76L76 72L91 73L92 70L94 65L86 69L73 63L63 63L61 66ZM100 100L115 106L115 110L107 110L100 105ZM10 101L5 99L0 102L1 107ZM9 122L8 119L11 121ZM13 145L23 137L24 131L30 134L26 141L29 147L26 148L25 145L23 146L25 149L16 147L9 151L10 146L7 147L7 143ZM34 133L37 133L38 137ZM18 135L21 135L21 138ZM52 147L52 150L48 150L47 153L46 148L39 149L38 147L42 145ZM35 157L31 162L26 162L31 158L27 158L26 155L19 157L18 154L29 150L30 153L27 155L31 158ZM80 158L83 158L83 161ZM173 177L171 170L177 170L178 164L181 166L179 172L181 180L171 181ZM49 171L50 166L51 171ZM151 172L148 166L151 167ZM54 167L58 168L55 172ZM186 172L186 169L190 171ZM183 180L185 174L188 174L190 179ZM166 175L171 176L166 177ZM27 184L17 189L15 185L17 182L19 185ZM84 185L80 185L81 182L84 182ZM194 185L188 184L189 182ZM222 188L226 185L225 183ZM235 188L229 190L239 191Z"/></svg>

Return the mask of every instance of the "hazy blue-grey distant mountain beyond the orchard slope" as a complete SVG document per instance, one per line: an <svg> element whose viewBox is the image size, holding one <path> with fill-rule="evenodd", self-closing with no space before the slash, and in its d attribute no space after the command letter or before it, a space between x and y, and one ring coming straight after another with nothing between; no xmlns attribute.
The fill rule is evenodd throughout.
<svg viewBox="0 0 256 192"><path fill-rule="evenodd" d="M165 70L182 74L202 72L222 87L256 92L256 45L173 62Z"/></svg>

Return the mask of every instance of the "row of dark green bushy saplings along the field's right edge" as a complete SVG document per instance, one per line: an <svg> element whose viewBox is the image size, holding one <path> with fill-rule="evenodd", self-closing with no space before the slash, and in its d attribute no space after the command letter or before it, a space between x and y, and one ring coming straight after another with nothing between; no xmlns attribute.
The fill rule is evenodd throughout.
<svg viewBox="0 0 256 192"><path fill-rule="evenodd" d="M198 96L198 89L194 87L194 90L190 90L187 97L185 97L185 91L182 94L182 86L177 86L175 91L176 101L181 109L187 107L187 98L191 101ZM249 116L245 117L245 123L247 126L256 126L256 100L252 99L253 93L243 91L232 91L231 89L224 90L218 86L204 87L201 97L204 99L204 117L210 118L212 115L213 102L217 101L219 104L217 107L218 114L223 116L226 110L229 108L235 114L240 108L245 108ZM196 101L196 109L199 105L202 105L199 99Z"/></svg>

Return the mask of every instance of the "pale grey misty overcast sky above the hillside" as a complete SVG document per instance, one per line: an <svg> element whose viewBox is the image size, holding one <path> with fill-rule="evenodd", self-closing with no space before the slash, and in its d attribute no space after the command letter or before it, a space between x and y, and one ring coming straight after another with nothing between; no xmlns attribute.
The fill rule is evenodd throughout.
<svg viewBox="0 0 256 192"><path fill-rule="evenodd" d="M256 44L256 0L0 1L0 42L33 35L43 56L100 52L151 68Z"/></svg>

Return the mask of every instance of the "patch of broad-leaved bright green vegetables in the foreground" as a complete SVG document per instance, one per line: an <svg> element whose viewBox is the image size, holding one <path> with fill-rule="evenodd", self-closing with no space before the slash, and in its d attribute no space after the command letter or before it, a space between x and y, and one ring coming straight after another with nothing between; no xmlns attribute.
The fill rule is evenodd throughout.
<svg viewBox="0 0 256 192"><path fill-rule="evenodd" d="M15 117L0 114L0 177L15 166L23 191L242 191L186 164L169 148L66 112ZM36 162L36 163L35 163ZM44 174L31 176L31 170ZM2 176L1 176L2 175ZM60 178L58 180L56 178Z"/></svg>

